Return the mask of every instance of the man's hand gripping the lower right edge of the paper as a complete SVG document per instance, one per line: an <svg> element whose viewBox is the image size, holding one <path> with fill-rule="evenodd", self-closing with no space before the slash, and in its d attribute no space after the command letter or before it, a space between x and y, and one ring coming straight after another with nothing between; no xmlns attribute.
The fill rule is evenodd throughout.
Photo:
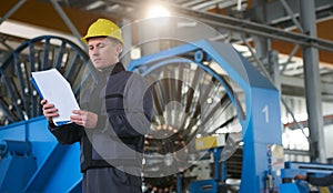
<svg viewBox="0 0 333 193"><path fill-rule="evenodd" d="M71 115L71 122L88 129L97 126L99 119L98 114L82 110L73 110L72 113L74 113L74 115Z"/></svg>

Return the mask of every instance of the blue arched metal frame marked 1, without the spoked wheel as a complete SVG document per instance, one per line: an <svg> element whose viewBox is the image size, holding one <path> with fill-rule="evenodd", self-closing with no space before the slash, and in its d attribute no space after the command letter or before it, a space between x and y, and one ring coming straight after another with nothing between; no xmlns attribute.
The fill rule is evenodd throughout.
<svg viewBox="0 0 333 193"><path fill-rule="evenodd" d="M142 68L143 65L145 68L142 74L147 75L161 65L174 62L174 60L179 60L180 63L188 62L182 58L182 54L188 52L194 52L193 61L200 68L218 77L215 72L202 63L205 60L214 60L244 92L246 113L242 114L233 92L226 88L233 105L239 110L238 118L243 129L244 164L240 192L279 190L281 179L272 170L273 163L271 162L270 146L282 144L280 94L232 45L201 40L143 57L132 62L129 69L135 71L139 67ZM168 58L172 59L163 60ZM163 61L159 62L161 60ZM148 65L153 62L155 62L154 65ZM222 85L225 85L223 80L216 79ZM212 192L216 191L213 190Z"/></svg>

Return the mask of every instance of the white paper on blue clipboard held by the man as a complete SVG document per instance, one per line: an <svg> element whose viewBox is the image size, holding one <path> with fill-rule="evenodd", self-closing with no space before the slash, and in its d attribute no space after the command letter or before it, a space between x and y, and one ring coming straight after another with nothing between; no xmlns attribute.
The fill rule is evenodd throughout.
<svg viewBox="0 0 333 193"><path fill-rule="evenodd" d="M69 123L70 115L73 114L72 110L80 109L70 83L57 69L31 72L31 74L41 96L58 109L59 116L53 118L54 124Z"/></svg>

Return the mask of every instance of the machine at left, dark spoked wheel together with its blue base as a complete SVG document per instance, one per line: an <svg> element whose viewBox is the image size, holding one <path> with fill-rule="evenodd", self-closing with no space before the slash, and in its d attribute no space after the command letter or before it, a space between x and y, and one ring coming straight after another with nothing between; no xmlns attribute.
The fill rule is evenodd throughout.
<svg viewBox="0 0 333 193"><path fill-rule="evenodd" d="M1 65L0 192L81 190L79 144L60 145L50 134L30 83L30 72L50 68L63 73L78 96L82 80L93 80L84 51L59 37L26 41Z"/></svg>

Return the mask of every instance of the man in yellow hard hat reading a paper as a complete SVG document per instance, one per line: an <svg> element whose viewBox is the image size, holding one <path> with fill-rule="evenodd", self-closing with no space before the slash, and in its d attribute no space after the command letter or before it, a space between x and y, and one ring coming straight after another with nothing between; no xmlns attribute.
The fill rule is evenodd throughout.
<svg viewBox="0 0 333 193"><path fill-rule="evenodd" d="M60 143L80 142L82 190L89 193L142 192L141 166L144 133L152 119L152 93L139 74L119 61L121 31L107 19L92 23L82 38L97 69L98 81L80 96L71 123L53 124L54 104L41 101L49 130Z"/></svg>

